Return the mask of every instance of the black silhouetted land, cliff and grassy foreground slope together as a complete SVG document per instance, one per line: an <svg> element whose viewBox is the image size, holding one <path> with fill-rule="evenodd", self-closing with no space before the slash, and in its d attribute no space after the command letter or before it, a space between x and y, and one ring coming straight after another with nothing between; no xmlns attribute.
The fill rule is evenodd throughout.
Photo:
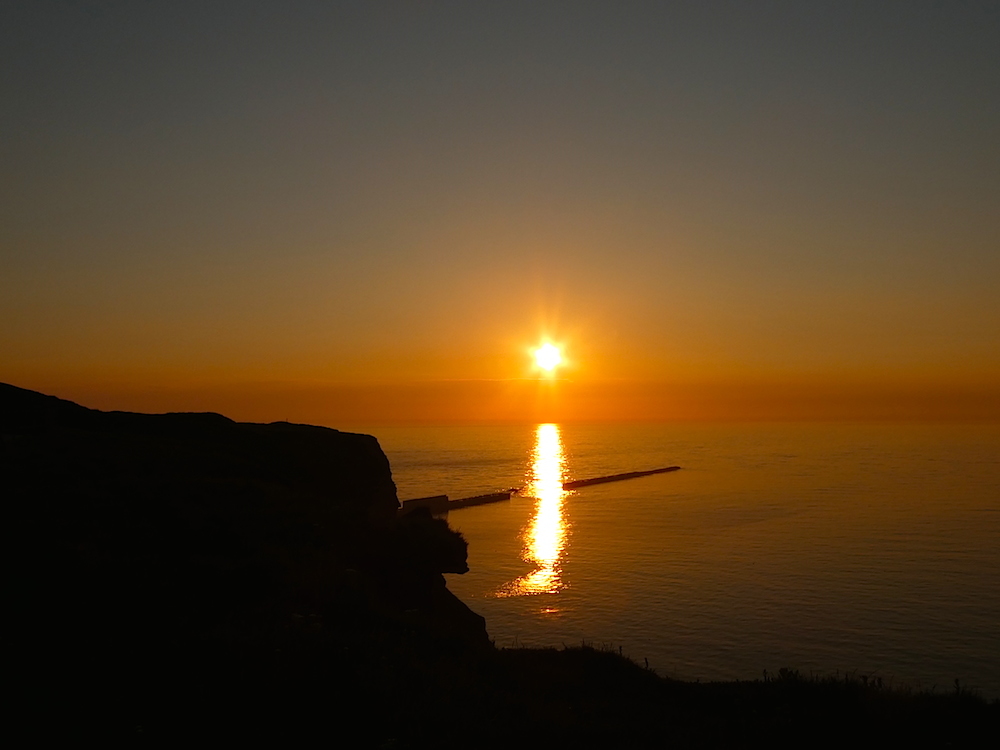
<svg viewBox="0 0 1000 750"><path fill-rule="evenodd" d="M464 540L397 515L372 437L0 384L0 439L8 683L36 740L958 747L1000 726L961 690L683 683L590 648L497 650L445 587Z"/></svg>

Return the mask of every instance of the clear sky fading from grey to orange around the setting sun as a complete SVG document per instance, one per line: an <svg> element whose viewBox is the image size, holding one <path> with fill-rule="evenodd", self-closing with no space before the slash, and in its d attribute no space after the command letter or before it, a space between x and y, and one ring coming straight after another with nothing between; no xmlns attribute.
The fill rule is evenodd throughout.
<svg viewBox="0 0 1000 750"><path fill-rule="evenodd" d="M0 381L1000 420L995 1L8 0L0 97Z"/></svg>

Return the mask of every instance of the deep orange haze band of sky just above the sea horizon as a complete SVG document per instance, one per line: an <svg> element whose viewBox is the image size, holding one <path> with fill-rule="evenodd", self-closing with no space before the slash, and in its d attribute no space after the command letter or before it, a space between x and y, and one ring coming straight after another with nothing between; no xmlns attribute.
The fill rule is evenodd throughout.
<svg viewBox="0 0 1000 750"><path fill-rule="evenodd" d="M413 383L77 384L53 395L91 408L214 411L237 421L338 429L379 424L613 421L998 422L992 384L581 383L552 379Z"/></svg>

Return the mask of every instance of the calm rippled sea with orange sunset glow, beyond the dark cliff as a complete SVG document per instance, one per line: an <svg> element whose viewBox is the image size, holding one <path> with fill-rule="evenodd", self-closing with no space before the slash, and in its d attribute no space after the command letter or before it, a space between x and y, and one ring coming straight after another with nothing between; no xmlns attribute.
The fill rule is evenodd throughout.
<svg viewBox="0 0 1000 750"><path fill-rule="evenodd" d="M1000 696L1000 427L365 431L402 499L525 487L448 519L471 567L449 587L498 646L611 645L689 680L791 667Z"/></svg>

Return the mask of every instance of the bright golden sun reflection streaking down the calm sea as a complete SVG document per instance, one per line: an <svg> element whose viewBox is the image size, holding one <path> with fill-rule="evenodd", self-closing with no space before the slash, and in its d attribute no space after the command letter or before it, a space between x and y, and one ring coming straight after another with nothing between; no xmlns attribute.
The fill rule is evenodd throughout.
<svg viewBox="0 0 1000 750"><path fill-rule="evenodd" d="M563 489L566 458L559 426L540 424L535 431L531 474L524 494L536 499L535 515L524 531L521 557L535 569L505 584L497 596L554 594L563 588L560 562L566 544L563 519Z"/></svg>

